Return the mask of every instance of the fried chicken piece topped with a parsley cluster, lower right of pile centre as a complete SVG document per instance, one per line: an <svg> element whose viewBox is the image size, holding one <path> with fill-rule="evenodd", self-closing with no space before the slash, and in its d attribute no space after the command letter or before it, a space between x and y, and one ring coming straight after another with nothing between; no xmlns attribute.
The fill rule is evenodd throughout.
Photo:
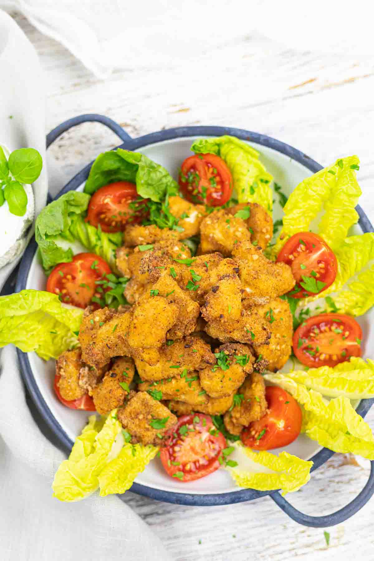
<svg viewBox="0 0 374 561"><path fill-rule="evenodd" d="M252 372L255 357L251 348L241 343L226 343L216 348L215 353L218 363L201 370L201 386L210 397L230 396Z"/></svg>

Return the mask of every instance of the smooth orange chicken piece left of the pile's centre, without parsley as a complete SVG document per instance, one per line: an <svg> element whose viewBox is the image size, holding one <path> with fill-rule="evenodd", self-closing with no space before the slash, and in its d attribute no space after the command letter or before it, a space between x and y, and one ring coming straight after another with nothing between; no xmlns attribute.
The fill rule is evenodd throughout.
<svg viewBox="0 0 374 561"><path fill-rule="evenodd" d="M127 341L133 350L158 349L166 341L166 334L176 323L179 307L167 298L145 294L134 306L133 320ZM117 353L118 354L118 353ZM137 353L140 356L141 353Z"/></svg>

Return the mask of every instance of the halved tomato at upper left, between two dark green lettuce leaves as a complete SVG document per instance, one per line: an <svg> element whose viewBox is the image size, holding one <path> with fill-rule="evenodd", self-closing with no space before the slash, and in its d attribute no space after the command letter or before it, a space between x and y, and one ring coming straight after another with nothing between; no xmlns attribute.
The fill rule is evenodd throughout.
<svg viewBox="0 0 374 561"><path fill-rule="evenodd" d="M136 185L117 181L98 189L91 196L86 222L103 232L123 232L126 226L141 222L148 213L145 201L138 200Z"/></svg>

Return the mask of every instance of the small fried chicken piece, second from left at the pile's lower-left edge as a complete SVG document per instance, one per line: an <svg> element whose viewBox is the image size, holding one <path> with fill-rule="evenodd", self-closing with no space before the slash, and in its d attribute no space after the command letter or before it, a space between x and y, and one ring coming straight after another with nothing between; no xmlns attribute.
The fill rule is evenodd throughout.
<svg viewBox="0 0 374 561"><path fill-rule="evenodd" d="M92 391L96 411L100 415L106 415L123 404L124 399L130 393L130 390L127 391L125 388L128 388L134 374L135 366L132 358L125 356L114 358L103 381Z"/></svg>

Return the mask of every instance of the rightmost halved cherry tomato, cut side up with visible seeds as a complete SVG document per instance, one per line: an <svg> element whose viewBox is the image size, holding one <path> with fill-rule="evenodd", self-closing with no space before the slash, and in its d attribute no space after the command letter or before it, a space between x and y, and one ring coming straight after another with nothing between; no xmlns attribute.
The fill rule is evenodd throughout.
<svg viewBox="0 0 374 561"><path fill-rule="evenodd" d="M335 366L361 356L362 329L350 316L320 314L303 321L293 335L293 352L311 368Z"/></svg>

